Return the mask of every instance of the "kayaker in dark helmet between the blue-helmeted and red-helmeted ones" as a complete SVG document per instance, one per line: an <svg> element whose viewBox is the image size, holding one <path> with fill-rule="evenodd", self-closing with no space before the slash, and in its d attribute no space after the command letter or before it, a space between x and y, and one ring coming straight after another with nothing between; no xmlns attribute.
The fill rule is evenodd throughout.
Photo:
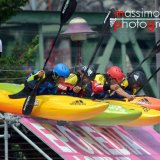
<svg viewBox="0 0 160 160"><path fill-rule="evenodd" d="M86 85L94 79L95 75L96 70L93 65L82 66L76 73L71 73L64 83L58 85L58 93L90 97L92 90Z"/></svg>

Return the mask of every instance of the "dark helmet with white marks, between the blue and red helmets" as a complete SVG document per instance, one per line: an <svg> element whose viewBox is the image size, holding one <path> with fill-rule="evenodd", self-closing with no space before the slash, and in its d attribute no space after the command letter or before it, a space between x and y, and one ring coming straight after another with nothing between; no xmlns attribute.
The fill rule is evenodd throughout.
<svg viewBox="0 0 160 160"><path fill-rule="evenodd" d="M87 68L88 68L88 70L87 70ZM95 70L94 66L83 66L83 67L81 67L81 72L82 73L86 72L86 76L89 78L93 78L96 74L96 70Z"/></svg>

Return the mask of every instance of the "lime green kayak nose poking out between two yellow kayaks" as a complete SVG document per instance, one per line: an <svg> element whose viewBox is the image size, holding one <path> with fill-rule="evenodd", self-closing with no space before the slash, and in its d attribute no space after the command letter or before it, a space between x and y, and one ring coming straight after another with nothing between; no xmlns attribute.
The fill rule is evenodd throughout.
<svg viewBox="0 0 160 160"><path fill-rule="evenodd" d="M142 112L135 109L128 109L125 105L109 103L108 108L99 115L87 119L84 122L100 126L121 125L137 119Z"/></svg>

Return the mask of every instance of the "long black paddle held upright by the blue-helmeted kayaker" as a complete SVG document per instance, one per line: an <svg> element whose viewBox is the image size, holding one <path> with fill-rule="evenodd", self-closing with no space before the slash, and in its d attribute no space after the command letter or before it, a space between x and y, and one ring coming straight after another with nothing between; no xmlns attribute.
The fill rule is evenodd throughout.
<svg viewBox="0 0 160 160"><path fill-rule="evenodd" d="M63 25L69 20L69 18L73 15L75 9L76 9L76 6L77 6L77 1L76 0L65 0L64 3L63 3L63 6L62 6L62 9L61 9L61 15L60 15L60 27L59 27L59 30L58 30L58 33L55 37L55 40L54 40L54 43L49 51L49 54L48 54L48 57L46 58L46 61L44 63L44 66L43 66L43 70L50 58L50 55L52 53L52 50L57 42L57 39L60 35L60 32L61 32L61 29L63 27ZM22 113L24 115L30 115L31 112L32 112L32 109L33 109L33 106L34 106L34 103L35 103L35 99L36 99L36 95L37 95L37 90L39 88L39 85L41 84L42 82L42 79L40 79L35 87L33 88L33 91L30 93L30 95L26 98L25 102L24 102L24 105L23 105L23 108L22 108Z"/></svg>

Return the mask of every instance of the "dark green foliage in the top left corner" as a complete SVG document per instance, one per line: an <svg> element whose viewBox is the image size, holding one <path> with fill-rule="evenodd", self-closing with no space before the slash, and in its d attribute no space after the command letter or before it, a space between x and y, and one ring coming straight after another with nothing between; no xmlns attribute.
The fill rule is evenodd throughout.
<svg viewBox="0 0 160 160"><path fill-rule="evenodd" d="M20 11L28 0L0 0L0 23L3 23L11 16L15 15L17 11Z"/></svg>

